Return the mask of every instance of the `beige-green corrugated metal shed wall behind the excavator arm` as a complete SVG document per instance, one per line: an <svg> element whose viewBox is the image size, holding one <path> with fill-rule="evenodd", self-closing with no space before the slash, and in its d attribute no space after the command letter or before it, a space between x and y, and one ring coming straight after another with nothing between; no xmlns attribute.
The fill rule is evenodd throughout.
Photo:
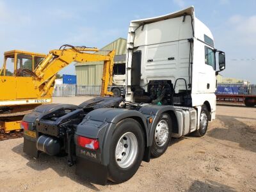
<svg viewBox="0 0 256 192"><path fill-rule="evenodd" d="M103 47L99 54L107 54L107 51L113 49L116 50L116 55L122 55L126 53L126 40L124 38L118 38L114 42ZM103 51L107 50L107 51ZM124 63L125 61L118 61L115 63ZM101 85L101 78L103 72L103 62L86 62L76 63L76 76L77 86L99 86Z"/></svg>

